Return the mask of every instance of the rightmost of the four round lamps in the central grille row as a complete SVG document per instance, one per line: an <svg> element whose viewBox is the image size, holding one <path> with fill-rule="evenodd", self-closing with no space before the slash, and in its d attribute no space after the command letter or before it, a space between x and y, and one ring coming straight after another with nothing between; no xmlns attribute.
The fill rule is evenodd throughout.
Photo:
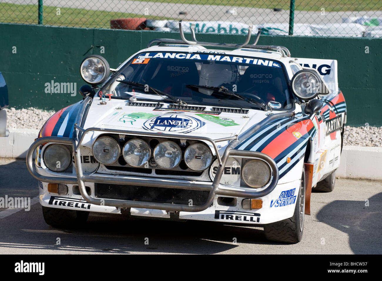
<svg viewBox="0 0 382 281"><path fill-rule="evenodd" d="M186 148L185 162L194 171L204 171L212 162L212 153L208 146L194 143Z"/></svg>

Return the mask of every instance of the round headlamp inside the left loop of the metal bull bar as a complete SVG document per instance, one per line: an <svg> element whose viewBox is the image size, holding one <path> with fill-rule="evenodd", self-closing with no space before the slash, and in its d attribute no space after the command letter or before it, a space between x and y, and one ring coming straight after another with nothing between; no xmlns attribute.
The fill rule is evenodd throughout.
<svg viewBox="0 0 382 281"><path fill-rule="evenodd" d="M65 145L53 143L44 151L44 164L53 172L62 172L68 169L71 163L71 153Z"/></svg>

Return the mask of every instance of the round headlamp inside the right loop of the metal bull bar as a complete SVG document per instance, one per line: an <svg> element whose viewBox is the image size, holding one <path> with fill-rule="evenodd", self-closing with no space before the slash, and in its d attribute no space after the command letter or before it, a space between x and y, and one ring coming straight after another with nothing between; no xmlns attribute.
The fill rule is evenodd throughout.
<svg viewBox="0 0 382 281"><path fill-rule="evenodd" d="M241 178L253 188L260 188L266 185L271 176L270 167L262 160L254 159L246 162L241 170Z"/></svg>

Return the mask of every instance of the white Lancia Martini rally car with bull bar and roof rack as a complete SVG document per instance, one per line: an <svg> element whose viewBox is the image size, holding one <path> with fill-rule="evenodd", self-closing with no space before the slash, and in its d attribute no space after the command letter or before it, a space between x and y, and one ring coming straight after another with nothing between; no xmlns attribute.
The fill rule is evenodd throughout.
<svg viewBox="0 0 382 281"><path fill-rule="evenodd" d="M126 213L252 224L299 242L311 190L332 191L340 164L337 61L256 45L260 31L248 44L252 26L243 44L223 44L198 42L194 26L188 41L179 25L182 40L155 39L117 69L83 60L92 86L27 154L45 221Z"/></svg>

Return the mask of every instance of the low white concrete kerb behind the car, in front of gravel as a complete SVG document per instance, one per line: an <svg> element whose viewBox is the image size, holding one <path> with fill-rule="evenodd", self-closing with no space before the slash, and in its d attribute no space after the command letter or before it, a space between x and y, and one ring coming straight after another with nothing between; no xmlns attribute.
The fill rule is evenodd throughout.
<svg viewBox="0 0 382 281"><path fill-rule="evenodd" d="M0 157L24 158L39 130L10 129L8 137L0 137ZM344 146L336 176L345 179L382 180L382 148Z"/></svg>

